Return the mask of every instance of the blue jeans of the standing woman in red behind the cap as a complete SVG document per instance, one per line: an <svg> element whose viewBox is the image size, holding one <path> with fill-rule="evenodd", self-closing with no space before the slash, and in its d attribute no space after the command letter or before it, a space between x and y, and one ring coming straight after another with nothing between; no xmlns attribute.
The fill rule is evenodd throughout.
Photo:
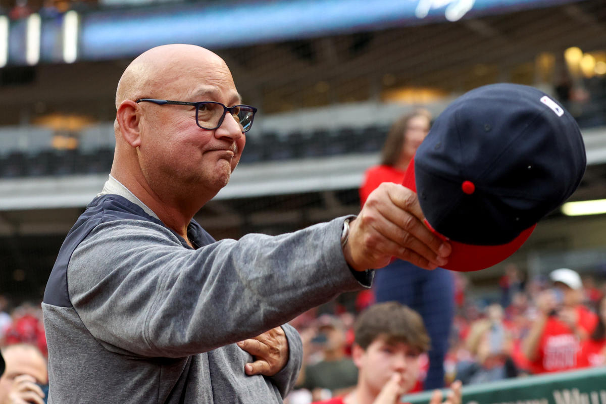
<svg viewBox="0 0 606 404"><path fill-rule="evenodd" d="M431 338L424 388L444 387L444 357L454 316L454 277L450 271L427 271L395 260L376 271L374 288L378 303L397 300L421 314Z"/></svg>

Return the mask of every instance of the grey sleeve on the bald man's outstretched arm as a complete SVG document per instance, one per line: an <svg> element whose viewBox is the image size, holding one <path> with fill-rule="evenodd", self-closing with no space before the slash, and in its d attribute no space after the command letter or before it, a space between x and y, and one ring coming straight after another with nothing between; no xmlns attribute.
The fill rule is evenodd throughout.
<svg viewBox="0 0 606 404"><path fill-rule="evenodd" d="M150 222L102 223L70 259L68 293L107 349L145 357L209 351L369 287L373 271L353 276L343 257L343 221L198 250Z"/></svg>

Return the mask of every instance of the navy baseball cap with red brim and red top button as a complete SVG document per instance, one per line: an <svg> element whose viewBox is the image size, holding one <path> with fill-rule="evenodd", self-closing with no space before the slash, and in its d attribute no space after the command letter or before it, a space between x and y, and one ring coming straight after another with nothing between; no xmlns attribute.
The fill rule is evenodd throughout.
<svg viewBox="0 0 606 404"><path fill-rule="evenodd" d="M444 268L501 262L581 182L587 157L574 118L533 87L491 84L438 116L408 166L425 224L448 240Z"/></svg>

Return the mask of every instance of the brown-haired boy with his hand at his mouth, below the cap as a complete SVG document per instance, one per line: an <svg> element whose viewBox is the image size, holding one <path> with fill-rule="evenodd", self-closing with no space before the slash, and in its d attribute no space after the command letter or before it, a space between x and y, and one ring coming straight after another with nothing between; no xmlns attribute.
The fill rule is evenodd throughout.
<svg viewBox="0 0 606 404"><path fill-rule="evenodd" d="M419 355L430 346L419 314L398 302L371 306L355 326L353 360L358 366L356 388L324 404L396 404L415 385ZM448 403L461 402L461 383L453 385ZM442 402L441 394L430 404Z"/></svg>

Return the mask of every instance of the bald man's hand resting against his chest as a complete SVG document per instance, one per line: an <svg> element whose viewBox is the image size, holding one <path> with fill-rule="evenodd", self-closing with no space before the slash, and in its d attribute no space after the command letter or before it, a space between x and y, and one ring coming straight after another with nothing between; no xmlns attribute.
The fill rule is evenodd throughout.
<svg viewBox="0 0 606 404"><path fill-rule="evenodd" d="M255 358L255 362L244 366L248 376L273 376L288 362L288 340L282 327L272 328L260 336L238 342L238 346Z"/></svg>

